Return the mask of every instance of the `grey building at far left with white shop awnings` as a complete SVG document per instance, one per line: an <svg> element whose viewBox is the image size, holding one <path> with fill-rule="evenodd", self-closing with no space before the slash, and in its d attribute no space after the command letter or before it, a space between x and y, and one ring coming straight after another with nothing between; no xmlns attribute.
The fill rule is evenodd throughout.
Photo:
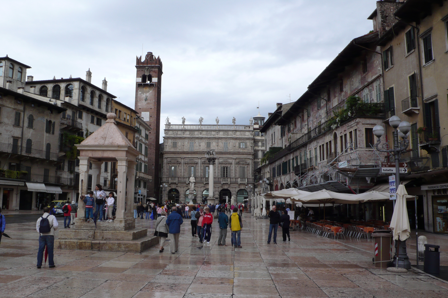
<svg viewBox="0 0 448 298"><path fill-rule="evenodd" d="M31 210L62 192L58 148L67 109L24 91L28 68L0 58L0 206L6 210Z"/></svg>

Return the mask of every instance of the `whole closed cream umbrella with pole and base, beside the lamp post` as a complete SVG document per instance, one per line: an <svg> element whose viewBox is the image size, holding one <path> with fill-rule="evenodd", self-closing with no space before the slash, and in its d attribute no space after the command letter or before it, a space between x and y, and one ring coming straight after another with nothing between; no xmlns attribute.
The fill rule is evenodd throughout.
<svg viewBox="0 0 448 298"><path fill-rule="evenodd" d="M409 238L411 227L409 226L408 209L406 208L405 197L408 195L403 184L398 186L396 191L395 208L393 209L390 227L392 229L393 239L397 242L396 249L396 267L388 270L392 272L405 272L410 269L409 257L406 255L405 246L400 249L400 242ZM398 258L403 260L404 268L398 268ZM409 267L409 268L406 268ZM404 269L404 270L403 270Z"/></svg>

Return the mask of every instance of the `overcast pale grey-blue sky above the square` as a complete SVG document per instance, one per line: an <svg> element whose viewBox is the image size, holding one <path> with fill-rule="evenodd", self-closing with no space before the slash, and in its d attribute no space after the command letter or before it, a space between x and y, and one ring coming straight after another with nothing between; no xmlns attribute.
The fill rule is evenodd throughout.
<svg viewBox="0 0 448 298"><path fill-rule="evenodd" d="M375 0L3 1L0 56L35 80L85 78L134 107L135 57L163 62L161 121L248 124L297 100L355 37ZM163 125L161 135L163 136Z"/></svg>

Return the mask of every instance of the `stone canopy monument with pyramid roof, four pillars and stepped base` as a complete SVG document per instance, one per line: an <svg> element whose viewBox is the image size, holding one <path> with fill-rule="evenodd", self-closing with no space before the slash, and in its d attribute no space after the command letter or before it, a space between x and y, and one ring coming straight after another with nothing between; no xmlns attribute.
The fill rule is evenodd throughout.
<svg viewBox="0 0 448 298"><path fill-rule="evenodd" d="M77 145L79 191L80 195L86 195L89 174L92 186L99 183L103 162L116 162L116 218L113 222L86 222L86 204L80 197L74 229L60 230L59 239L55 240L57 248L142 252L158 241L155 236L147 236L147 229L135 228L134 179L139 152L118 129L116 115L108 113L107 118L103 126Z"/></svg>

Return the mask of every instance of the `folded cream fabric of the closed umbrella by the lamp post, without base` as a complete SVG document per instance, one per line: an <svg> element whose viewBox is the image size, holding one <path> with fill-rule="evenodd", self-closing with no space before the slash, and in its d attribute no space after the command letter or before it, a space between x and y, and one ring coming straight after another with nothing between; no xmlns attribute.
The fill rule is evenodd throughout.
<svg viewBox="0 0 448 298"><path fill-rule="evenodd" d="M396 191L395 208L393 209L390 228L393 229L393 239L405 241L409 238L411 227L409 226L408 209L406 208L406 200L408 195L403 184L398 186Z"/></svg>

